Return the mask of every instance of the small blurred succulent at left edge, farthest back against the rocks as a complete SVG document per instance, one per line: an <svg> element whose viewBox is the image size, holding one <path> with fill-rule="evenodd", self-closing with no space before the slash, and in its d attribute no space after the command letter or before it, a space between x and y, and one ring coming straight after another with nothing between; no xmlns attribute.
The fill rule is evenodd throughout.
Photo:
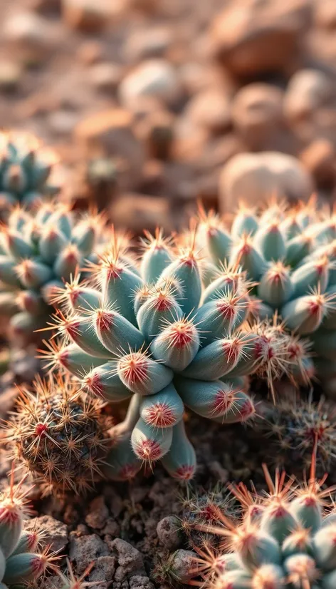
<svg viewBox="0 0 336 589"><path fill-rule="evenodd" d="M48 183L56 157L29 133L0 133L0 210L36 206L58 193ZM2 216L2 215L1 215Z"/></svg>

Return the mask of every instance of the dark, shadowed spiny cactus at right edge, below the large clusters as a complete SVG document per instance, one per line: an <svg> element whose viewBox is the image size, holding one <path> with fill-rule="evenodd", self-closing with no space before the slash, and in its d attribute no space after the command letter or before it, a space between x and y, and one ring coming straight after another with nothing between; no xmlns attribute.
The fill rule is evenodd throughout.
<svg viewBox="0 0 336 589"><path fill-rule="evenodd" d="M270 439L268 454L278 466L310 464L317 440L317 463L322 473L330 472L336 460L335 406L320 399L279 399L266 406L261 431Z"/></svg>

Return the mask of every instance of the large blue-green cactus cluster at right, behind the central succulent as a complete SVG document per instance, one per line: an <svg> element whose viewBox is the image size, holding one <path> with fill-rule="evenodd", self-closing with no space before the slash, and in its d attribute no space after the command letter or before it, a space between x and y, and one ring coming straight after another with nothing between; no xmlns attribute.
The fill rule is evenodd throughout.
<svg viewBox="0 0 336 589"><path fill-rule="evenodd" d="M316 357L315 367L305 359L310 376L315 371L322 379L334 377L335 213L318 208L312 199L295 208L271 203L260 215L241 207L231 228L212 212L201 210L200 217L207 275L222 265L241 267L254 282L253 312L261 318L277 312L289 332L310 342Z"/></svg>

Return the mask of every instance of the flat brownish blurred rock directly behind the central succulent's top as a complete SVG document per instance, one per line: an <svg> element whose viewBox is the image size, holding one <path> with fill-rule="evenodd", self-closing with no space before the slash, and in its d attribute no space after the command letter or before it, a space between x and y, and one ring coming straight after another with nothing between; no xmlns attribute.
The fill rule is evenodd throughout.
<svg viewBox="0 0 336 589"><path fill-rule="evenodd" d="M135 193L116 198L110 206L110 217L115 227L130 230L136 235L142 235L144 229L154 231L155 227L171 232L175 225L167 198Z"/></svg>

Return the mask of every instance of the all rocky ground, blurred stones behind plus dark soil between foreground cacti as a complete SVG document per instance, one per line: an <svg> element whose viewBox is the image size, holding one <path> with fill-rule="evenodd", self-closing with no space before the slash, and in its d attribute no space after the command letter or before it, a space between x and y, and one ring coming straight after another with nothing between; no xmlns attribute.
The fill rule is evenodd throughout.
<svg viewBox="0 0 336 589"><path fill-rule="evenodd" d="M332 202L335 0L3 0L0 23L0 126L56 150L63 198L104 206L134 232L183 225L196 198L227 212L241 197L305 199L316 188ZM1 419L9 385L36 370L14 356ZM187 426L198 493L262 484L263 436L194 416ZM2 483L8 466L3 455ZM130 486L101 484L83 503L34 507L76 573L95 561L98 589L164 589L155 563L188 546L168 546L157 524L181 513L186 493L157 468Z"/></svg>

